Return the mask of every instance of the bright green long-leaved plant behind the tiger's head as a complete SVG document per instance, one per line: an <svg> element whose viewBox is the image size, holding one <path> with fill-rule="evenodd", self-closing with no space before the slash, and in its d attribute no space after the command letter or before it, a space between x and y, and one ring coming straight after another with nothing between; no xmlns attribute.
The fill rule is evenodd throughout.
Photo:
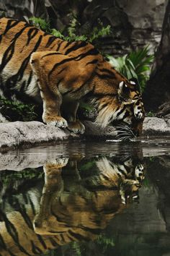
<svg viewBox="0 0 170 256"><path fill-rule="evenodd" d="M114 58L108 56L108 58L117 71L128 79L135 77L138 80L141 91L145 90L153 62L153 54L149 53L148 46L132 51L122 57Z"/></svg>

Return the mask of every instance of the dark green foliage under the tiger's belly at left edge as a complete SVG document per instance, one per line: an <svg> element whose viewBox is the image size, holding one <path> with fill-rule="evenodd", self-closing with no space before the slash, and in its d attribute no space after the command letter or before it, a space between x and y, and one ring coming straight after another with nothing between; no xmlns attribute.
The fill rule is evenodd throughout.
<svg viewBox="0 0 170 256"><path fill-rule="evenodd" d="M33 121L37 119L35 105L33 104L24 104L0 98L0 108L1 114L11 121Z"/></svg>

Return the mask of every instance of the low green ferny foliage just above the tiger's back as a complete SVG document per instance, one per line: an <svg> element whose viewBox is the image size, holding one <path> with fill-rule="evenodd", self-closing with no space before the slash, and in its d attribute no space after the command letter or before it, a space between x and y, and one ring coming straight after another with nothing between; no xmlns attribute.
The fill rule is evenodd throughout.
<svg viewBox="0 0 170 256"><path fill-rule="evenodd" d="M71 22L66 31L67 35L63 35L61 31L58 31L55 28L51 29L50 23L42 20L41 18L32 17L30 20L36 27L44 30L45 32L51 33L58 38L68 41L84 40L92 43L94 40L110 34L110 25L104 27L103 23L99 21L97 27L94 27L91 31L86 31L86 35L79 35L78 29L80 27L80 23L75 15L71 15Z"/></svg>

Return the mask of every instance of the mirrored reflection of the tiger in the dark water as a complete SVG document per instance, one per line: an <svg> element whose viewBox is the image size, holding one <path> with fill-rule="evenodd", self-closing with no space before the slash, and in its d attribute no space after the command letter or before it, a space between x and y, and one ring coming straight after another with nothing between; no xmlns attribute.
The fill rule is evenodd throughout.
<svg viewBox="0 0 170 256"><path fill-rule="evenodd" d="M99 158L46 163L42 193L10 195L0 208L0 255L41 255L69 242L93 240L138 196L143 163ZM129 199L130 200L130 199Z"/></svg>

